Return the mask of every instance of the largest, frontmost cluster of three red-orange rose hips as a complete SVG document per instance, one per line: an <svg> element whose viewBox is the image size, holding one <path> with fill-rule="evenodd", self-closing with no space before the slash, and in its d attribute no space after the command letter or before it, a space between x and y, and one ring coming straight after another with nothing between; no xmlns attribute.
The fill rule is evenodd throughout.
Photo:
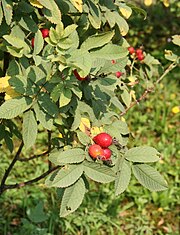
<svg viewBox="0 0 180 235"><path fill-rule="evenodd" d="M89 155L93 159L99 159L102 161L110 160L112 152L108 147L113 142L112 137L109 134L102 132L96 135L93 138L93 141L95 144L89 146Z"/></svg>

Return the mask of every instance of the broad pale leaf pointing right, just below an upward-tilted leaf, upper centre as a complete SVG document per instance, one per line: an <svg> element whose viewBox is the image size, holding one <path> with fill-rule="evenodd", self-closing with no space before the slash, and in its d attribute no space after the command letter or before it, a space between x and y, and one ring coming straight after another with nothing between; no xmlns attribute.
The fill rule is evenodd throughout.
<svg viewBox="0 0 180 235"><path fill-rule="evenodd" d="M102 58L106 60L120 59L125 57L127 54L127 48L123 48L114 44L108 44L97 51L90 52L91 57Z"/></svg>

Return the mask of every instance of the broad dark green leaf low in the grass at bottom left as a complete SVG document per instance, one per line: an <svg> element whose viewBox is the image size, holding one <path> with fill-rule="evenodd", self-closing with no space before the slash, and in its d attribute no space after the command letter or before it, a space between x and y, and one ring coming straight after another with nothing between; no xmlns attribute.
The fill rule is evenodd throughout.
<svg viewBox="0 0 180 235"><path fill-rule="evenodd" d="M34 223L41 223L48 219L48 216L44 213L43 202L39 202L35 207L28 210L28 218Z"/></svg>

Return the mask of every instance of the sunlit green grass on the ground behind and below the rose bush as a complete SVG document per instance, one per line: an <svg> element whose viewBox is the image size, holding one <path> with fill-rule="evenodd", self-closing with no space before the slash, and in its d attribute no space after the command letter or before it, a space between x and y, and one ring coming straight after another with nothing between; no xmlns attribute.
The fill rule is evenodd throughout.
<svg viewBox="0 0 180 235"><path fill-rule="evenodd" d="M179 189L179 113L172 108L179 105L176 73L156 89L153 94L127 114L132 132L132 146L151 145L161 153L156 164L169 184L164 192L150 192L133 178L127 191L115 198L113 184L93 183L81 207L68 218L59 218L59 205L55 190L36 186L9 190L0 198L0 234L2 235L178 235ZM142 115L141 115L142 114ZM45 136L42 134L40 143ZM2 151L1 151L2 152ZM10 159L2 153L1 166ZM23 165L25 164L25 165ZM41 173L46 162L18 163L11 174L29 179ZM37 210L36 206L40 209ZM36 214L40 213L42 221Z"/></svg>

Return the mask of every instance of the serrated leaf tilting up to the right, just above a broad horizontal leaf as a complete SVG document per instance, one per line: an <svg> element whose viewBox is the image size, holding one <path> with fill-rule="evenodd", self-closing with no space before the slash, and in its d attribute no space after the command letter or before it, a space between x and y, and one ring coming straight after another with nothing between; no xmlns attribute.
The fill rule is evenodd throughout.
<svg viewBox="0 0 180 235"><path fill-rule="evenodd" d="M81 45L81 49L91 50L92 48L102 47L111 41L114 32L101 33L88 37Z"/></svg>

